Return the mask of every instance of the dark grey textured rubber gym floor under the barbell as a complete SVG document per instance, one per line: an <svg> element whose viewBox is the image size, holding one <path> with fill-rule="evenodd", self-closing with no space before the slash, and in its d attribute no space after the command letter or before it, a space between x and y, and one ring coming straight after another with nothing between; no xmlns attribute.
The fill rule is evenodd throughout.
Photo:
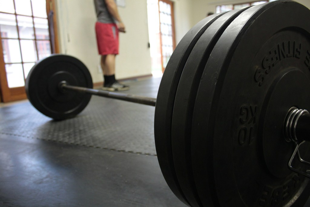
<svg viewBox="0 0 310 207"><path fill-rule="evenodd" d="M126 82L126 93L156 97L159 83ZM92 96L53 121L29 101L0 105L0 207L186 206L158 165L154 109Z"/></svg>

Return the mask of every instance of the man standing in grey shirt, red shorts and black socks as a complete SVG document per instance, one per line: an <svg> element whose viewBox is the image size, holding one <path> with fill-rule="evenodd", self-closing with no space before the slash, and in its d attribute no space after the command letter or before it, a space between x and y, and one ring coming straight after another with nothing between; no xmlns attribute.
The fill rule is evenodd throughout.
<svg viewBox="0 0 310 207"><path fill-rule="evenodd" d="M115 79L115 58L118 54L118 32L126 32L125 25L117 10L115 0L94 0L97 14L95 24L100 65L104 74L103 90L124 91L129 86Z"/></svg>

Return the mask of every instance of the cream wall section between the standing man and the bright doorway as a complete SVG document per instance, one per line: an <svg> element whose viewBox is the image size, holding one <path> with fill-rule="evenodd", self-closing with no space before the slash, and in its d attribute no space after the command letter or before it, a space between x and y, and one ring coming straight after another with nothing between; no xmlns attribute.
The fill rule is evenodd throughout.
<svg viewBox="0 0 310 207"><path fill-rule="evenodd" d="M118 79L151 74L146 3L146 0L126 0L126 7L118 7L126 26L126 33L120 34L120 55L116 61Z"/></svg>

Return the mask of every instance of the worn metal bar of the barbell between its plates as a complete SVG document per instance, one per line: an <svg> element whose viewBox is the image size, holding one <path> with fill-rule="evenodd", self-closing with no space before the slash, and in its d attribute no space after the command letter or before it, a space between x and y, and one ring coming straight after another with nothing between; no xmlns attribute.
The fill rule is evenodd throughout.
<svg viewBox="0 0 310 207"><path fill-rule="evenodd" d="M156 98L151 98L151 97L137 96L137 95L126 94L126 93L108 92L108 91L96 90L92 88L84 88L84 87L78 87L78 86L71 86L66 82L61 82L59 87L61 90L71 90L71 91L76 91L80 93L89 93L89 94L96 95L96 96L129 101L129 102L144 104L148 106L156 105Z"/></svg>

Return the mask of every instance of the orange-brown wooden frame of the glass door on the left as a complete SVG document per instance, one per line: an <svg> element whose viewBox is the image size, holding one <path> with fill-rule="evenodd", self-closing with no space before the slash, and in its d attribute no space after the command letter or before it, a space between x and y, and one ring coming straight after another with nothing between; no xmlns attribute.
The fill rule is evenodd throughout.
<svg viewBox="0 0 310 207"><path fill-rule="evenodd" d="M58 27L57 27L57 18L56 18L56 2L55 0L46 0L46 10L47 17L50 11L54 12L53 15L53 29L54 29L54 45L51 45L51 49L55 48L55 51L51 51L52 53L59 53L59 40L58 40ZM48 18L47 18L48 19ZM16 25L17 27L17 25ZM50 34L51 38L51 34ZM52 41L50 41L52 43ZM7 73L5 70L5 62L3 56L3 48L2 48L2 38L0 35L0 102L9 102L9 101L17 101L26 99L27 95L25 92L25 87L16 87L9 88L7 83Z"/></svg>

